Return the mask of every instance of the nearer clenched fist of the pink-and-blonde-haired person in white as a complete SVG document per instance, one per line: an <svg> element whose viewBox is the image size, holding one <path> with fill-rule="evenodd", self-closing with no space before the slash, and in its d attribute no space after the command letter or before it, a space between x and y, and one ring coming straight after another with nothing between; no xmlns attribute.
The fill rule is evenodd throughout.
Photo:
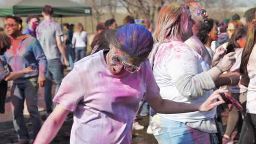
<svg viewBox="0 0 256 144"><path fill-rule="evenodd" d="M236 62L236 58L234 57L235 52L230 52L226 54L217 64L217 66L222 70L222 71L227 71L229 70L232 65Z"/></svg>

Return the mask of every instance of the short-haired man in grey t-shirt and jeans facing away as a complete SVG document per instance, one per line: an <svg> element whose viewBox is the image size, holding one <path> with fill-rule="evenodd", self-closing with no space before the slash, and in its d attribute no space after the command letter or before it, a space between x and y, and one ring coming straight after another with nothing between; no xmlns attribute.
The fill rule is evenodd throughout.
<svg viewBox="0 0 256 144"><path fill-rule="evenodd" d="M45 5L42 10L44 20L39 24L36 29L37 39L43 47L48 68L46 72L46 83L44 87L44 100L46 105L47 116L53 111L52 105L52 94L51 87L53 86L53 79L55 79L56 89L58 91L61 81L64 77L63 67L61 63L61 55L64 59L66 66L69 66L69 62L66 56L65 47L62 44L61 36L63 35L61 27L57 22L52 20L53 18L53 7Z"/></svg>

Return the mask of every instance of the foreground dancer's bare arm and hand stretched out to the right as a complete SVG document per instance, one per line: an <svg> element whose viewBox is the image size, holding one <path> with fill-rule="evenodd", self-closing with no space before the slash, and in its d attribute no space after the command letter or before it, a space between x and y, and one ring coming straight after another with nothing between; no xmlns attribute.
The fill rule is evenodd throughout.
<svg viewBox="0 0 256 144"><path fill-rule="evenodd" d="M224 89L218 89L208 97L208 99L201 105L178 103L171 100L162 99L161 96L149 99L148 104L154 111L157 113L184 113L184 112L193 112L193 111L210 111L214 107L224 104L224 100L220 96L220 93L228 92ZM219 101L214 102L216 99Z"/></svg>

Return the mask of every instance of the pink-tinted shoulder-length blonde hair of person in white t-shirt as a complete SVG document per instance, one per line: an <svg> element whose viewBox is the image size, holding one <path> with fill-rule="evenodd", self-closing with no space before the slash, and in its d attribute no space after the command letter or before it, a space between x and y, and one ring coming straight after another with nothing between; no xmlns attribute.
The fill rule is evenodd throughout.
<svg viewBox="0 0 256 144"><path fill-rule="evenodd" d="M163 7L158 13L155 40L160 43L170 39L181 40L182 35L188 30L187 5L171 3Z"/></svg>

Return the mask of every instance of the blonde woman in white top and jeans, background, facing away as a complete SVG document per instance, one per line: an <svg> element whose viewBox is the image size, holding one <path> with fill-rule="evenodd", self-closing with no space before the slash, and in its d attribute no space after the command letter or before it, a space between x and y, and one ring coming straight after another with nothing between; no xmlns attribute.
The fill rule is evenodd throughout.
<svg viewBox="0 0 256 144"><path fill-rule="evenodd" d="M75 60L74 62L79 61L85 57L87 49L87 32L84 31L82 23L78 23L77 31L74 32L72 38L72 45L75 49Z"/></svg>

